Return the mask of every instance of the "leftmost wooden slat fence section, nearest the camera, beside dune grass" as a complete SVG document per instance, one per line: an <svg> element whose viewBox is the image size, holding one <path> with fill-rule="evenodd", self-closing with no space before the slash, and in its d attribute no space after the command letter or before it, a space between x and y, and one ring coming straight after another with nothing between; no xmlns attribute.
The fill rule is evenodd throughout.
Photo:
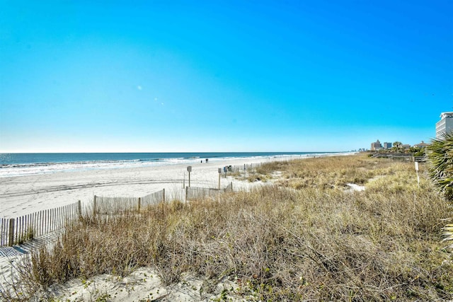
<svg viewBox="0 0 453 302"><path fill-rule="evenodd" d="M55 209L0 219L0 246L12 246L57 231L75 221L81 214L81 203L75 202Z"/></svg>

